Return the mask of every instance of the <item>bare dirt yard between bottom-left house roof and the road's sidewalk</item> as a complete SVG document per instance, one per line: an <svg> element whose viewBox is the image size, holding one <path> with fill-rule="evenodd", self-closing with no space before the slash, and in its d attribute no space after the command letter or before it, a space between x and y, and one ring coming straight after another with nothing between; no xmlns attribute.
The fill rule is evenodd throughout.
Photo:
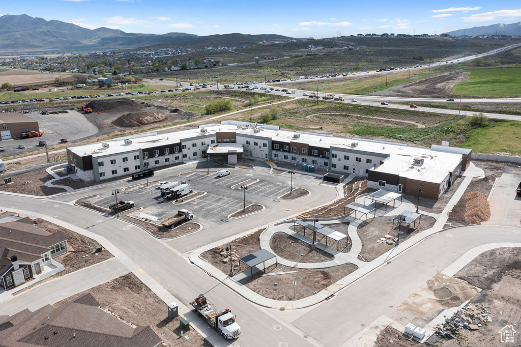
<svg viewBox="0 0 521 347"><path fill-rule="evenodd" d="M179 318L169 319L167 305L133 274L118 277L77 295L55 303L59 306L83 293L91 293L101 308L128 324L150 326L169 346L211 347L195 330L183 331L190 336L181 337Z"/></svg>

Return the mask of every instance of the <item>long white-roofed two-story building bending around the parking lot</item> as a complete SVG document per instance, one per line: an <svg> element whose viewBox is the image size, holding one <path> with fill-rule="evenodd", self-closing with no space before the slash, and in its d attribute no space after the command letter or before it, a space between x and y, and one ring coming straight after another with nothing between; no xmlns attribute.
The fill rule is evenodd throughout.
<svg viewBox="0 0 521 347"><path fill-rule="evenodd" d="M470 162L471 150L431 148L366 139L280 130L277 126L238 121L201 125L165 134L141 134L104 143L67 148L70 168L84 181L127 176L206 157L206 154L271 159L311 165L368 180L369 188L438 199Z"/></svg>

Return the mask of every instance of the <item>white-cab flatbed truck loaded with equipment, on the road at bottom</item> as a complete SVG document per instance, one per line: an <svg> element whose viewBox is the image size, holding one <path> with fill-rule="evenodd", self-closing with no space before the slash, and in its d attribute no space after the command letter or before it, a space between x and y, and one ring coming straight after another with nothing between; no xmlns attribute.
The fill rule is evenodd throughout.
<svg viewBox="0 0 521 347"><path fill-rule="evenodd" d="M237 339L241 333L241 327L235 321L235 316L229 308L220 311L217 306L210 303L205 296L200 295L190 303L193 306L195 314L206 319L207 323L221 334L225 339Z"/></svg>

